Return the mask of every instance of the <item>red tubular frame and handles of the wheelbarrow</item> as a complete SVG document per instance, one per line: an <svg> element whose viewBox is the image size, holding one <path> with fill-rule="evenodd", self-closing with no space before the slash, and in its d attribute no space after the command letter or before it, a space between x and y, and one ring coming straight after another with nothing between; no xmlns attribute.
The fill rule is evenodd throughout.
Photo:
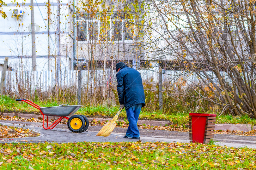
<svg viewBox="0 0 256 170"><path fill-rule="evenodd" d="M38 110L40 110L40 106L37 105L37 104L35 104L35 103L33 103L33 102L30 101L30 100L27 100L27 99L16 99L16 101L24 101L24 102L26 102L27 104L29 104L29 105L31 105L31 106L37 108ZM41 114L43 115L43 128L46 129L46 130L48 130L48 129L53 129L55 126L57 126L57 125L59 124L59 122L62 121L63 118L65 118L65 119L67 119L67 120L69 119L69 118L66 117L66 116L60 116L55 122L52 123L51 126L49 126L49 123L48 123L48 116L46 116L46 122L47 122L47 128L46 128L45 125L44 125L44 122L45 122L45 115L43 114L43 112L42 112L41 110L40 110L40 112L41 112Z"/></svg>

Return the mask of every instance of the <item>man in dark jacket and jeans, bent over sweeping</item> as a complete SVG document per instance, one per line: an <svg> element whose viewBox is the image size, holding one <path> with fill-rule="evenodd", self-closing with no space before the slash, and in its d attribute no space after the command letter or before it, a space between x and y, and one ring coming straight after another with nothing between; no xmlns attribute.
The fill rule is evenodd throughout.
<svg viewBox="0 0 256 170"><path fill-rule="evenodd" d="M117 92L120 108L125 108L129 127L123 138L140 139L137 122L140 110L145 106L145 94L140 73L125 65L116 64Z"/></svg>

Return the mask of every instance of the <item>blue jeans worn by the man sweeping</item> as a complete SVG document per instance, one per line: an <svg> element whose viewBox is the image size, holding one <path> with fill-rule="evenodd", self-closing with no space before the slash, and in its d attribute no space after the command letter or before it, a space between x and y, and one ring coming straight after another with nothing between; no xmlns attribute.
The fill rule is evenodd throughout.
<svg viewBox="0 0 256 170"><path fill-rule="evenodd" d="M140 114L142 104L133 105L126 110L126 116L129 121L129 126L126 131L127 137L139 137L140 132L137 127L137 122Z"/></svg>

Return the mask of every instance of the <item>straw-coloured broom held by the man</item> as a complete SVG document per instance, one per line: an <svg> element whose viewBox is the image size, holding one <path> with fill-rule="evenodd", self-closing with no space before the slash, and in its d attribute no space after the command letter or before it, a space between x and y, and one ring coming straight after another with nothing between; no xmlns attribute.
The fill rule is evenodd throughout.
<svg viewBox="0 0 256 170"><path fill-rule="evenodd" d="M101 130L96 134L96 136L109 136L114 128L116 127L116 120L121 113L122 108L117 112L117 114L114 116L114 118L111 121L108 121L106 125L104 125Z"/></svg>

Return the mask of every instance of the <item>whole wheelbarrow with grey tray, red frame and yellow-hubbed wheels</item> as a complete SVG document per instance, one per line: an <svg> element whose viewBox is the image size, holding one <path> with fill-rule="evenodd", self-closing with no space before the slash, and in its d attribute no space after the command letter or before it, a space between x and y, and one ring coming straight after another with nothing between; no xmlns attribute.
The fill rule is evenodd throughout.
<svg viewBox="0 0 256 170"><path fill-rule="evenodd" d="M68 120L68 128L71 132L81 133L88 129L89 121L86 116L84 115L74 115L76 111L81 108L81 105L59 105L53 107L40 107L39 105L33 103L27 99L16 99L16 101L24 101L27 104L37 108L43 115L43 128L44 129L53 129L55 126L58 125L62 119ZM46 116L46 123L47 127L45 127L45 116ZM56 116L59 117L52 125L49 126L48 123L48 116ZM67 116L70 116L69 118Z"/></svg>

